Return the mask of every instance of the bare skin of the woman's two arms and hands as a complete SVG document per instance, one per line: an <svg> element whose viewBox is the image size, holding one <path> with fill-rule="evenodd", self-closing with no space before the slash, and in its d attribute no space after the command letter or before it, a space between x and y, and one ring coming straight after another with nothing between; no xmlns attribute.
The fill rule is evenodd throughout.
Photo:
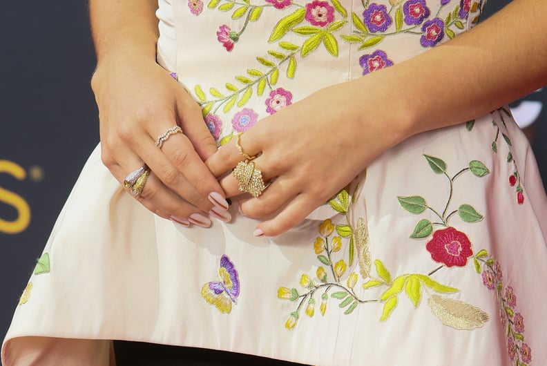
<svg viewBox="0 0 547 366"><path fill-rule="evenodd" d="M152 40L155 41L157 35L136 24L144 19L152 23L144 14L155 6L140 0L141 5L146 3L150 8L145 10L143 6L142 18L137 19L119 15L108 6L108 10L100 12L101 3L106 1L91 1L95 4L92 26L102 30L94 32L98 54L102 55L96 73L102 77L94 77L94 90L96 95L109 96L97 97L99 110L104 115L101 127L102 139L107 142L103 152L105 164L108 163L118 180L123 180L128 171L140 165L139 157L150 164L155 162L153 159L161 160L153 144L155 153L142 147L146 145L145 140L172 126L173 119L182 120L184 135L169 139L172 147L164 148L163 155L166 162L172 163L171 167L189 176L180 177L185 184L173 184L165 179L160 163L157 163L160 168L157 171L149 164L154 173L159 172L159 179L146 184L141 202L162 217L166 217L165 213L176 213L184 218L184 214L191 211L191 204L207 211L204 197L211 189L219 189L212 182L214 177L222 177L222 191L218 192L225 192L225 197L240 195L233 175L226 175L242 160L235 142L213 151L208 137L204 136L202 117L190 97L179 95L177 87L160 77L159 72L151 73ZM128 8L124 2L115 6ZM135 8L135 2L131 2L131 9L137 12ZM241 146L249 155L261 154L254 162L265 181L272 180L272 183L259 198L245 195L240 211L258 219L279 211L273 218L260 222L254 234L273 236L291 229L342 189L375 157L408 137L480 117L547 84L547 47L544 46L547 32L541 16L545 14L545 1L514 0L490 19L442 46L365 77L318 90L255 124L242 135ZM110 18L111 27L115 26L116 30L113 33L118 33L119 23L112 18L119 17L124 18L121 28L126 29L126 33L113 35L104 23ZM124 39L124 35L132 41ZM146 51L141 48L144 44ZM128 70L119 65L120 61L135 64L135 75L133 71L127 75ZM125 75L117 75L122 73L122 68ZM150 77L142 74L145 70L151 73ZM117 82L113 83L109 77L117 78ZM137 77L139 83L132 81ZM164 93L135 92L136 86L131 83L143 85L141 79L151 88L164 88ZM432 86L434 93L423 93ZM99 103L99 100L108 102ZM359 103L355 103L356 100ZM139 108L143 105L147 108ZM324 105L329 108L316 108ZM135 113L135 106L141 113L144 110L144 115ZM165 122L168 116L172 118L169 124ZM278 128L280 124L283 128ZM307 134L301 136L299 131L307 131ZM109 140L113 141L110 148ZM177 155L189 158L177 160ZM173 164L181 161L187 164ZM208 185L201 186L204 182ZM167 202L167 197L170 200L175 193L180 200ZM148 195L152 197L150 200ZM166 199L160 200L164 196Z"/></svg>

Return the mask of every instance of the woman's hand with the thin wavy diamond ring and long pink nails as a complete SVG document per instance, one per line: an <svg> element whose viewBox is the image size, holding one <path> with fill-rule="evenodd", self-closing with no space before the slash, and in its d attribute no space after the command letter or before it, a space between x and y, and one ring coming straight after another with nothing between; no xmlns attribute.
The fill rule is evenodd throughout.
<svg viewBox="0 0 547 366"><path fill-rule="evenodd" d="M201 110L155 61L108 59L91 81L99 108L102 161L122 184L146 164L151 174L135 198L147 209L184 226L209 227L208 213L229 221L224 191L204 160L217 150ZM162 148L155 140L178 125Z"/></svg>

